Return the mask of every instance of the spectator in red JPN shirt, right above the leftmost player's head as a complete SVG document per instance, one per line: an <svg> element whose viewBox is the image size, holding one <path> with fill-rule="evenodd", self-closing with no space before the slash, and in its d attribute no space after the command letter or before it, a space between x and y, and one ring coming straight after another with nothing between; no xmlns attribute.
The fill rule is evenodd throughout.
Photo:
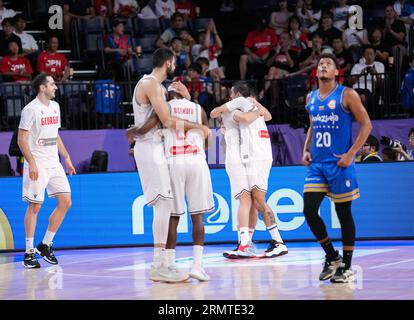
<svg viewBox="0 0 414 320"><path fill-rule="evenodd" d="M55 81L68 80L70 67L65 55L57 52L59 49L58 37L51 36L47 47L47 50L37 57L37 71L52 76Z"/></svg>

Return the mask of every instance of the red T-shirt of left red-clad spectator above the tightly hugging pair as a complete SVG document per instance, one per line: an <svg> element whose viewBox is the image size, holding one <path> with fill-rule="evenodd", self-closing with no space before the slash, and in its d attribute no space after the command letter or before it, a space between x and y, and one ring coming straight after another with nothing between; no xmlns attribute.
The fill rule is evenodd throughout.
<svg viewBox="0 0 414 320"><path fill-rule="evenodd" d="M244 46L249 48L258 57L263 57L276 46L278 38L272 29L263 31L254 30L247 34Z"/></svg>

